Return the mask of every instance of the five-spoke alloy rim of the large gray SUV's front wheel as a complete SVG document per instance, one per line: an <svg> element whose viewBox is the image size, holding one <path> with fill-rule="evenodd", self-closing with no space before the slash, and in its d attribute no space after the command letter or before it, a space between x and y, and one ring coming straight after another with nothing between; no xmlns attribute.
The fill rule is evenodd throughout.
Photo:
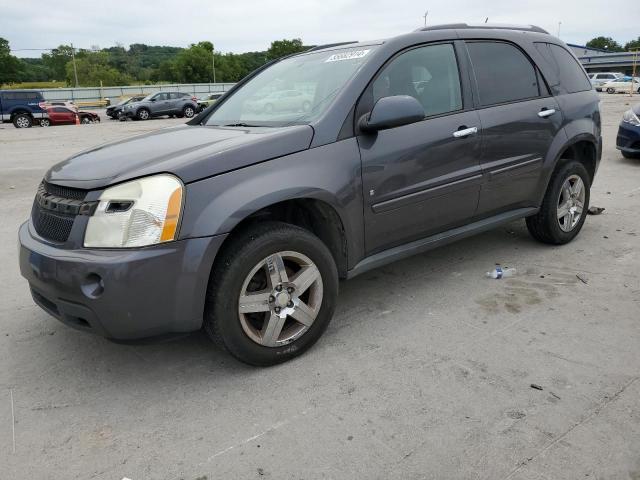
<svg viewBox="0 0 640 480"><path fill-rule="evenodd" d="M281 347L313 325L323 298L318 267L298 252L269 255L249 272L238 299L245 334L265 347Z"/></svg>

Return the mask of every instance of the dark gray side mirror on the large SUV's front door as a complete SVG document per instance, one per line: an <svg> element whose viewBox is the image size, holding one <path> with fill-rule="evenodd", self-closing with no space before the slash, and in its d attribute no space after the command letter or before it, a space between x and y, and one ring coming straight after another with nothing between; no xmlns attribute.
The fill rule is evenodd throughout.
<svg viewBox="0 0 640 480"><path fill-rule="evenodd" d="M371 113L358 121L360 130L367 133L400 127L424 119L424 108L409 95L383 97L373 106Z"/></svg>

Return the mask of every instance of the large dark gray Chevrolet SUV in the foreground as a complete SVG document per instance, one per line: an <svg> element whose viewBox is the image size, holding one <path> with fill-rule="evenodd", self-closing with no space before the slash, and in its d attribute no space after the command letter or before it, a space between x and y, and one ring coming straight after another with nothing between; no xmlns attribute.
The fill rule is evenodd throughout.
<svg viewBox="0 0 640 480"><path fill-rule="evenodd" d="M307 109L255 108L292 89ZM340 278L517 219L570 242L601 142L598 95L540 28L316 47L187 125L51 168L20 268L71 327L120 341L204 328L270 365L318 340Z"/></svg>

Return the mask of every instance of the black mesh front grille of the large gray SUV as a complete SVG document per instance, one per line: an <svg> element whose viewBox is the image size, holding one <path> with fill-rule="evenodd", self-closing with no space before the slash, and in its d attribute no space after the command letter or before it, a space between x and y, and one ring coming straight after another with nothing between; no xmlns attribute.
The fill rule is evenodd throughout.
<svg viewBox="0 0 640 480"><path fill-rule="evenodd" d="M82 201L87 192L78 188L61 187L42 182L38 187L38 195L33 203L31 210L31 221L38 235L52 242L64 243L69 239L73 222L76 218L75 213L53 212L47 208L43 208L38 203L38 198L42 196L47 198L56 197L58 200Z"/></svg>

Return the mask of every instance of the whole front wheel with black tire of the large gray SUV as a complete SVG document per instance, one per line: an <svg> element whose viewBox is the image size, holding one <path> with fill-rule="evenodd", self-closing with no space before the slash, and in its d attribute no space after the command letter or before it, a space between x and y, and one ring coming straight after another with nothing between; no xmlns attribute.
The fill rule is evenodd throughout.
<svg viewBox="0 0 640 480"><path fill-rule="evenodd" d="M338 272L324 243L300 227L264 222L241 231L227 245L216 260L207 291L204 329L209 337L240 361L256 366L285 362L311 347L329 325L338 295ZM306 282L306 288L292 270L291 266L300 266L297 261L315 278ZM282 281L279 269L270 274L275 281L267 274L267 262L269 269L285 266L289 282L283 282L284 288L278 290ZM257 283L252 286L252 282ZM241 294L254 291L261 291L262 300L244 307L257 309L241 312ZM308 323L300 323L290 314L305 314L299 318ZM282 318L284 324L269 336L271 326ZM272 324L272 320L276 322Z"/></svg>

